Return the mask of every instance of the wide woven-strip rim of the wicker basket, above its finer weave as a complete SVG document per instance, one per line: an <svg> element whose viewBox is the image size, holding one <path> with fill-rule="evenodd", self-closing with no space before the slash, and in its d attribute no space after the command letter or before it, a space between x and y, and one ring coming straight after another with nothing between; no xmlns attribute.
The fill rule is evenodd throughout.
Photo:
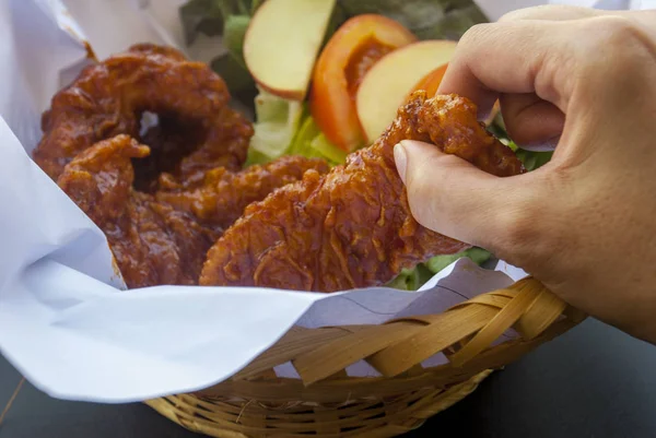
<svg viewBox="0 0 656 438"><path fill-rule="evenodd" d="M426 382L444 387L503 367L585 318L529 276L438 315L393 319L383 324L293 327L232 378L194 394L269 399L267 392L276 388L279 394L288 389L290 395L305 399L319 391L344 394L364 388L375 390L390 382L399 392ZM508 329L514 329L518 338L493 344ZM447 363L432 368L421 366L440 353ZM379 377L349 376L345 368L360 360L370 364ZM288 363L300 379L276 375L273 368Z"/></svg>

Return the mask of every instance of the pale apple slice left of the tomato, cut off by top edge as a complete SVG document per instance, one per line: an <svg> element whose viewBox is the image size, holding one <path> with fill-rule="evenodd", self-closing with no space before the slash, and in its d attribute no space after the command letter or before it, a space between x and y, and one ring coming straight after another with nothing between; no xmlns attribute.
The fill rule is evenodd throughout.
<svg viewBox="0 0 656 438"><path fill-rule="evenodd" d="M267 0L244 37L248 71L267 92L303 100L336 0Z"/></svg>

